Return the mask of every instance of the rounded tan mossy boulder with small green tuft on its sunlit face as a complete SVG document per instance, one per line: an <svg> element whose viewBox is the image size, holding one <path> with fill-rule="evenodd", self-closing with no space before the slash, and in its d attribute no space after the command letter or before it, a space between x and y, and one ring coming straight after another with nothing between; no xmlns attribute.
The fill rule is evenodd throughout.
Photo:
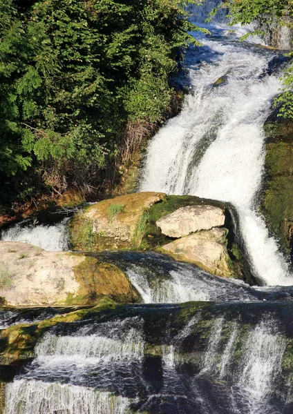
<svg viewBox="0 0 293 414"><path fill-rule="evenodd" d="M101 251L140 246L142 215L164 197L164 193L133 193L94 204L70 224L73 248Z"/></svg>

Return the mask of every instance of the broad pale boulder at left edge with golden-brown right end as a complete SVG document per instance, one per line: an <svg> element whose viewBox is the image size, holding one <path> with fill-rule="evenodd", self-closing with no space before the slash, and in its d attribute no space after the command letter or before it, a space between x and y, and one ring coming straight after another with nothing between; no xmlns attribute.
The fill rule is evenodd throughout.
<svg viewBox="0 0 293 414"><path fill-rule="evenodd" d="M122 270L95 257L19 242L0 242L0 257L0 297L10 306L95 304L102 295L139 299Z"/></svg>

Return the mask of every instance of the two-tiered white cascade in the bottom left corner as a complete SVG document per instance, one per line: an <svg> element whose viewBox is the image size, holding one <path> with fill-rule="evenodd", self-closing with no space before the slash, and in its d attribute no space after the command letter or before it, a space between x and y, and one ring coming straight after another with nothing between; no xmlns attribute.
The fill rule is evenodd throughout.
<svg viewBox="0 0 293 414"><path fill-rule="evenodd" d="M50 333L35 353L25 377L6 386L6 414L126 414L129 400L104 390L115 370L126 380L131 364L141 363L142 320L89 324L71 335Z"/></svg>

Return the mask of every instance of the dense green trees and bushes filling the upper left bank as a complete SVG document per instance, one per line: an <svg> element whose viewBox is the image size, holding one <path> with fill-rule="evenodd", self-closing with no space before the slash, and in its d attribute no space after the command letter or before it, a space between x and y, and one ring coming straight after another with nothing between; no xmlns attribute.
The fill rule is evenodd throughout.
<svg viewBox="0 0 293 414"><path fill-rule="evenodd" d="M111 179L195 29L182 0L0 0L0 204Z"/></svg>

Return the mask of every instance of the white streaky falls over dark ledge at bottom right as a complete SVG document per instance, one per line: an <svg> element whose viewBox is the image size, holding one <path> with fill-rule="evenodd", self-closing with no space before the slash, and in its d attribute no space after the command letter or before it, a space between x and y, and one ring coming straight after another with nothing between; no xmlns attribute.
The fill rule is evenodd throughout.
<svg viewBox="0 0 293 414"><path fill-rule="evenodd" d="M224 323L223 318L218 318L211 328L200 375L214 373L223 380L233 379L230 405L234 405L236 413L240 413L238 409L243 409L243 404L246 406L245 414L271 413L266 410L270 408L268 400L281 376L285 337L278 333L274 319L264 318L246 334L241 333L238 322L233 322L229 326L231 333L223 349ZM232 364L237 345L240 361L235 371ZM237 409L239 402L242 408Z"/></svg>

